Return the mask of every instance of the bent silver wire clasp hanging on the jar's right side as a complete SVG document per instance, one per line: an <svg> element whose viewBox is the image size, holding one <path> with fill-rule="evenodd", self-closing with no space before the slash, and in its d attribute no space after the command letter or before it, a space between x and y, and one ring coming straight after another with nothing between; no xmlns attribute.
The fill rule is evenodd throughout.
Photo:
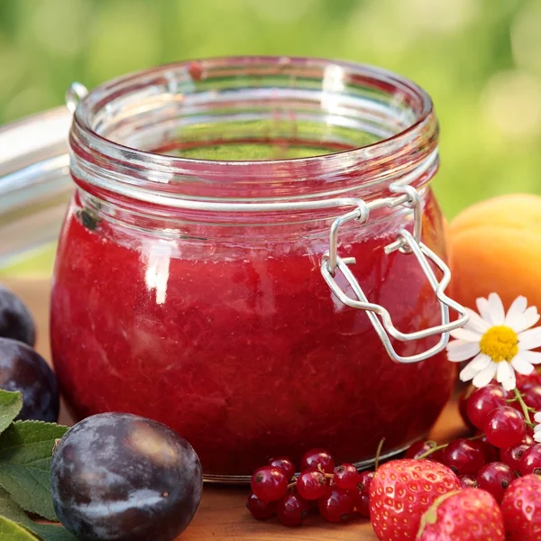
<svg viewBox="0 0 541 541"><path fill-rule="evenodd" d="M449 332L464 326L469 316L464 307L455 302L452 298L445 295L445 289L449 285L451 280L451 271L449 267L442 261L435 252L432 252L424 243L421 242L421 227L422 227L422 209L420 205L420 197L417 189L412 186L404 186L400 184L390 185L390 191L395 194L404 194L399 197L386 199L381 203L374 202L370 206L360 201L357 208L349 212L346 215L340 216L335 219L335 222L331 226L331 234L329 240L329 250L324 254L323 261L321 262L321 274L326 280L329 288L335 293L335 296L348 307L357 308L359 310L365 310L369 317L372 326L376 333L380 336L381 342L384 345L387 353L393 361L401 363L411 363L425 361L429 357L436 355L436 353L442 352L447 343L449 342ZM427 329L423 329L414 333L402 333L392 323L389 311L378 304L371 303L359 282L353 276L349 266L355 263L355 258L341 258L337 253L338 248L338 230L341 225L351 220L358 220L365 224L368 221L369 212L371 207L388 206L390 208L394 206L405 205L413 209L414 225L413 234L409 233L407 229L400 229L397 234L397 239L388 244L384 248L384 252L389 254L396 250L402 253L413 255L422 271L424 272L426 279L428 280L430 287L433 289L436 299L440 305L441 324ZM434 271L430 266L432 262L442 272L443 276L441 280L437 280ZM353 289L353 293L356 298L349 297L335 280L336 271L340 271L345 280L349 283ZM449 319L449 308L453 308L459 315L458 319L451 322ZM381 320L380 320L381 317ZM429 336L441 335L439 342L433 347L427 349L425 352L417 353L408 357L400 356L392 347L390 337L399 340L400 342L410 342L427 338Z"/></svg>

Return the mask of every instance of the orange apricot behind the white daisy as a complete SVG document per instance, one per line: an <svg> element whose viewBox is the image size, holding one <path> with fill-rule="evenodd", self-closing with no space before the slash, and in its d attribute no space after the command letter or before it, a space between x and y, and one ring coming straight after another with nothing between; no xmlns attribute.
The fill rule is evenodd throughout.
<svg viewBox="0 0 541 541"><path fill-rule="evenodd" d="M466 208L447 230L453 277L449 290L475 309L498 293L507 308L524 295L541 309L541 197L513 194Z"/></svg>

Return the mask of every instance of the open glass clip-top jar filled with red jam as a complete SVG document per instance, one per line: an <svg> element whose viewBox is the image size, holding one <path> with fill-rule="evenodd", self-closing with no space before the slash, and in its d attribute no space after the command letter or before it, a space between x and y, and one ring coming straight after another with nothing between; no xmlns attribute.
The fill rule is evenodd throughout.
<svg viewBox="0 0 541 541"><path fill-rule="evenodd" d="M72 87L51 347L75 417L171 426L206 479L368 464L449 398L429 96L381 69L223 58ZM77 107L76 94L80 96Z"/></svg>

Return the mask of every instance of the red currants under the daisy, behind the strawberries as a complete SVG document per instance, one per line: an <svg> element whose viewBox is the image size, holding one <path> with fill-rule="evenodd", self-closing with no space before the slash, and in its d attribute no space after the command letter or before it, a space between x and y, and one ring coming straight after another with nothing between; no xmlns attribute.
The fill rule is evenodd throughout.
<svg viewBox="0 0 541 541"><path fill-rule="evenodd" d="M417 442L406 457L444 463L464 488L478 487L499 502L518 476L541 473L541 444L532 437L533 415L541 409L541 384L527 381L512 393L500 385L470 389L459 408L475 436L446 445Z"/></svg>

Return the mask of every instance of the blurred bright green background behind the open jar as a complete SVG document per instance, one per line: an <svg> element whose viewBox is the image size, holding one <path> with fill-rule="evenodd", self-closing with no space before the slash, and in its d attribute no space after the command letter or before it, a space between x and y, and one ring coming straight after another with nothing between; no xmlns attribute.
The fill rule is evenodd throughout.
<svg viewBox="0 0 541 541"><path fill-rule="evenodd" d="M62 104L73 80L244 53L357 60L425 87L448 217L541 194L539 0L0 0L0 124Z"/></svg>

